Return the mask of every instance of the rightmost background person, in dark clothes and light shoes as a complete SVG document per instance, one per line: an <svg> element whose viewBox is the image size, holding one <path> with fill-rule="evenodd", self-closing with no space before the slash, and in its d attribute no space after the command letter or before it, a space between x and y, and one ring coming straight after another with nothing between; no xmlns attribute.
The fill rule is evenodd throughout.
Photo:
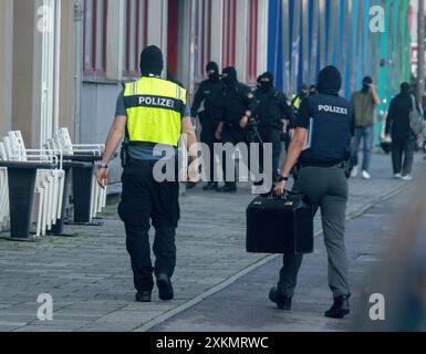
<svg viewBox="0 0 426 354"><path fill-rule="evenodd" d="M385 128L386 137L392 138L394 177L403 180L413 179L412 169L416 136L409 127L409 112L412 110L412 87L404 82L401 85L401 93L391 102Z"/></svg>

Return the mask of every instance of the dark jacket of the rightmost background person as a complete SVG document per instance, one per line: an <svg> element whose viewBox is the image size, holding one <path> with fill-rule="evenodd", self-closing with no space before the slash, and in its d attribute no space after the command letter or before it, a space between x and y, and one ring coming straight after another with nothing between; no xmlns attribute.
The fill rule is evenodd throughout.
<svg viewBox="0 0 426 354"><path fill-rule="evenodd" d="M408 140L413 138L409 127L409 112L412 111L412 95L409 93L399 93L391 102L387 114L385 133L391 134L393 140Z"/></svg>

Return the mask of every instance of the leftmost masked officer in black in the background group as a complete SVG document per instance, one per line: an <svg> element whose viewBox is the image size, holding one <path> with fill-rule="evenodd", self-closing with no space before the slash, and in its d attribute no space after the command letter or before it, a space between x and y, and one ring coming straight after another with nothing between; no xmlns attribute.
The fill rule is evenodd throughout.
<svg viewBox="0 0 426 354"><path fill-rule="evenodd" d="M193 116L197 115L198 110L204 102L205 110L198 113L201 124L201 143L209 147L209 183L205 190L217 190L218 183L215 178L215 143L217 139L215 133L218 128L222 115L222 91L224 82L220 80L219 66L215 62L209 62L206 66L208 80L201 82L195 95L193 104Z"/></svg>

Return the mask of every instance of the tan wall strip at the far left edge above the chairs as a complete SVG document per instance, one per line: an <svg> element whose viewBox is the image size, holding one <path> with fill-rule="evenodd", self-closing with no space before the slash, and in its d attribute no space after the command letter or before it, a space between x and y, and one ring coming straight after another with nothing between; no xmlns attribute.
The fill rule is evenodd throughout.
<svg viewBox="0 0 426 354"><path fill-rule="evenodd" d="M13 0L0 0L0 136L12 127Z"/></svg>

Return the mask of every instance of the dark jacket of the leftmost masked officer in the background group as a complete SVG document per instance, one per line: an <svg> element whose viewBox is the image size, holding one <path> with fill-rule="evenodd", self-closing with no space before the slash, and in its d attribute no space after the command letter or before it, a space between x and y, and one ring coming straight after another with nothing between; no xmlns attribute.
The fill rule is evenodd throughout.
<svg viewBox="0 0 426 354"><path fill-rule="evenodd" d="M206 80L201 82L194 97L191 108L193 116L198 114L198 111L204 102L205 111L199 114L201 125L217 125L222 116L222 91L224 83L220 80Z"/></svg>

